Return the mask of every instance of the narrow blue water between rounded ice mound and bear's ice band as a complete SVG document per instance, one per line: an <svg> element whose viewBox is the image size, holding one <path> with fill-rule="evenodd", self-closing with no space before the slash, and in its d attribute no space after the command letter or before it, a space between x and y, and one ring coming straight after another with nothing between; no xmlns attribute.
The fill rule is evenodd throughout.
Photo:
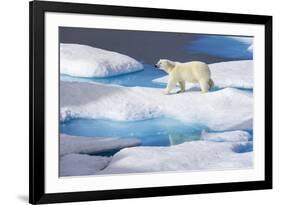
<svg viewBox="0 0 281 205"><path fill-rule="evenodd" d="M79 78L68 75L61 75L62 81L79 81L79 82L98 82L104 84L116 84L127 87L153 87L164 88L165 84L154 83L152 80L167 75L164 71L154 68L152 65L144 64L144 70L134 73L118 75L108 78Z"/></svg>

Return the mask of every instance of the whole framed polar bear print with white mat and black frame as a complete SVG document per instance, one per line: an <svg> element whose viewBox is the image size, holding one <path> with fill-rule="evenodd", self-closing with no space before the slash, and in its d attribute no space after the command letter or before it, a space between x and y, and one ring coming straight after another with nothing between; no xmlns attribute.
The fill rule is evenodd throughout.
<svg viewBox="0 0 281 205"><path fill-rule="evenodd" d="M272 17L30 2L30 203L272 188Z"/></svg>

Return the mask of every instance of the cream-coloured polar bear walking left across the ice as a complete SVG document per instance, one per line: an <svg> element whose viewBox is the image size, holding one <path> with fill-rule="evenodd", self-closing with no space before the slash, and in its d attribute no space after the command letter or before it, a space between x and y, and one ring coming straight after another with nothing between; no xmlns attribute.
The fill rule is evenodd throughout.
<svg viewBox="0 0 281 205"><path fill-rule="evenodd" d="M199 83L202 93L208 92L214 85L211 79L211 71L204 62L191 61L180 63L167 59L160 59L158 63L155 64L155 67L169 74L168 84L164 94L169 94L177 83L180 85L180 91L178 93L183 93L185 91L185 81Z"/></svg>

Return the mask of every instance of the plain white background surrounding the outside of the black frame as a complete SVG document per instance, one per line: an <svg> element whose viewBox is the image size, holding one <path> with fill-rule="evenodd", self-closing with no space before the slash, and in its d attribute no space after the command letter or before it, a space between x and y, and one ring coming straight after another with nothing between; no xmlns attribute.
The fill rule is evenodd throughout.
<svg viewBox="0 0 281 205"><path fill-rule="evenodd" d="M79 1L75 1L79 2ZM79 204L277 204L280 201L281 12L278 1L250 0L81 0L80 2L170 9L273 15L274 18L274 189L236 193L157 197ZM28 1L1 2L0 69L0 203L28 200ZM279 106L277 106L279 105ZM3 115L4 114L4 115ZM78 204L78 203L77 203Z"/></svg>

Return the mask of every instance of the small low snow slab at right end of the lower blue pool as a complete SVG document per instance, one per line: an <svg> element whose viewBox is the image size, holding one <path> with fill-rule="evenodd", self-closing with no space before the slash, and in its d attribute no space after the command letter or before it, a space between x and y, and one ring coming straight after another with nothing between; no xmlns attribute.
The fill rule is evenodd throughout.
<svg viewBox="0 0 281 205"><path fill-rule="evenodd" d="M208 133L203 131L201 139L214 142L244 142L251 138L250 134L246 131L235 130L221 133Z"/></svg>

